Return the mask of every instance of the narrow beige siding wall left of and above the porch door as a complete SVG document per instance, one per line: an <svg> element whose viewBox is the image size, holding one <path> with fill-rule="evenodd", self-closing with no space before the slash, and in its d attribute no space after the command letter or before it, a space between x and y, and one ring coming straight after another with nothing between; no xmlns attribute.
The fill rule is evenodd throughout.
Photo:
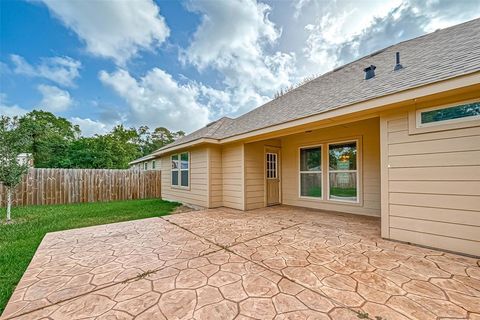
<svg viewBox="0 0 480 320"><path fill-rule="evenodd" d="M265 147L267 146L280 147L281 141L271 139L245 144L246 210L265 207Z"/></svg>

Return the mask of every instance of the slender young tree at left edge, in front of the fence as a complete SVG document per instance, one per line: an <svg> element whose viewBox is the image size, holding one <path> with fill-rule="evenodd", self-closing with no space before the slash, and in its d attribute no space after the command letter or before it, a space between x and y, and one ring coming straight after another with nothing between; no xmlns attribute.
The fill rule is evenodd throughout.
<svg viewBox="0 0 480 320"><path fill-rule="evenodd" d="M28 146L27 137L18 128L16 118L0 118L0 182L7 188L7 223L11 221L12 193L28 171L28 161L18 155Z"/></svg>

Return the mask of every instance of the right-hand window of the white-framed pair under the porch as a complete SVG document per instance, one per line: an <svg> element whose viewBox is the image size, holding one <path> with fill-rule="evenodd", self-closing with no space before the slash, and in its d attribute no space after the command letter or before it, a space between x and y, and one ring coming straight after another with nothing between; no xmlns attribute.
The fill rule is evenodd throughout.
<svg viewBox="0 0 480 320"><path fill-rule="evenodd" d="M358 202L357 142L328 145L328 199Z"/></svg>

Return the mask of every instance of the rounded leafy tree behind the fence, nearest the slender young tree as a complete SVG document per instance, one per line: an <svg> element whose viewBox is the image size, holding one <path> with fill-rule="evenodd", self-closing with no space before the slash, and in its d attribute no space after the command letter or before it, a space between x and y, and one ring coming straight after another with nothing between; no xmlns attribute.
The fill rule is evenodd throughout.
<svg viewBox="0 0 480 320"><path fill-rule="evenodd" d="M68 168L69 145L80 136L80 128L65 118L33 110L18 120L18 129L29 138L28 152L37 168Z"/></svg>

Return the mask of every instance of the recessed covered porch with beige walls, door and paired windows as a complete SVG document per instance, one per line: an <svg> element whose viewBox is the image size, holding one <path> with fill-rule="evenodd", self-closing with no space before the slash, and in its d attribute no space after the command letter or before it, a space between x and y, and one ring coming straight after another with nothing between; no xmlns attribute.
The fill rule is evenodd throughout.
<svg viewBox="0 0 480 320"><path fill-rule="evenodd" d="M378 117L245 143L245 209L275 204L380 216Z"/></svg>

